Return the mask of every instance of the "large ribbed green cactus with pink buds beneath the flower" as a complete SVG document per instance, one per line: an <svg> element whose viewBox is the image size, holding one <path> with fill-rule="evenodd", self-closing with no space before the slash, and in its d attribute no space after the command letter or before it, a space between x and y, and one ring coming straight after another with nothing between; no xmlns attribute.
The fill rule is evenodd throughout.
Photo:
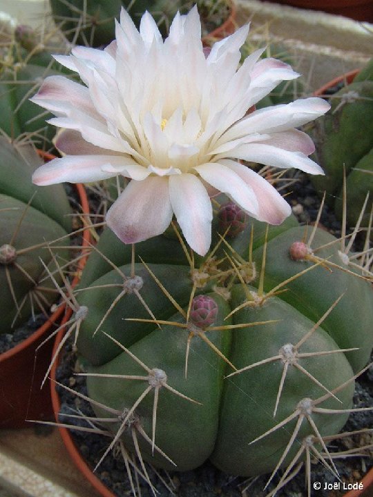
<svg viewBox="0 0 373 497"><path fill-rule="evenodd" d="M227 237L233 206L217 202L204 258L180 235L131 247L104 231L76 293L77 348L111 447L164 469L276 472L345 424L372 288L329 233L306 242L291 216Z"/></svg>

